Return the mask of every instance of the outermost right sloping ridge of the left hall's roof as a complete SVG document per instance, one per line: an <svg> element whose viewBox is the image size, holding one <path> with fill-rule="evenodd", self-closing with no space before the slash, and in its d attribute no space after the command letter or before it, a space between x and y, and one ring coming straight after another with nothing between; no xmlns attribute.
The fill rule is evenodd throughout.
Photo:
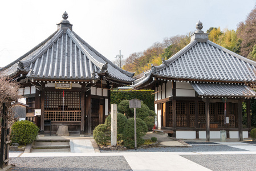
<svg viewBox="0 0 256 171"><path fill-rule="evenodd" d="M95 52L96 55L100 56L100 58L105 60L105 62L107 62L108 64L111 64L111 66L113 68L115 68L116 70L119 70L121 73L123 73L123 74L125 74L125 75L127 75L129 77L133 77L135 75L135 72L125 71L125 70L117 67L109 59L107 59L105 56L101 55L100 52L96 51L95 48L91 47L90 44L88 44L86 41L84 41L82 38L80 38L80 36L78 34L76 34L75 31L72 31L72 33L76 36L76 38L78 38L78 40L80 42L82 42L84 45L86 45L91 51Z"/></svg>

